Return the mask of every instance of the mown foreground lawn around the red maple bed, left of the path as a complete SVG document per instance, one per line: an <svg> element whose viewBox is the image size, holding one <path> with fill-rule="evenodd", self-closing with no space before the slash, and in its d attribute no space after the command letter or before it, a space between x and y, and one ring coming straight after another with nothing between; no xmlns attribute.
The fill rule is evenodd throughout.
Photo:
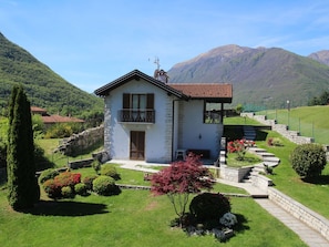
<svg viewBox="0 0 329 247"><path fill-rule="evenodd" d="M123 189L117 196L43 198L35 208L17 213L0 193L0 246L306 246L298 236L251 198L232 197L239 225L236 236L220 244L213 236L188 237L171 228L174 209L166 196Z"/></svg>

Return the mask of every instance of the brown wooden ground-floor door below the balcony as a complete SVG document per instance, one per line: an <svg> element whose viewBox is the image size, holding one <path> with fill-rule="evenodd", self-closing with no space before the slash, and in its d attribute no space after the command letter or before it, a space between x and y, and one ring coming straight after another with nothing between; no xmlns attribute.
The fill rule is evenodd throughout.
<svg viewBox="0 0 329 247"><path fill-rule="evenodd" d="M131 159L144 161L145 132L131 131Z"/></svg>

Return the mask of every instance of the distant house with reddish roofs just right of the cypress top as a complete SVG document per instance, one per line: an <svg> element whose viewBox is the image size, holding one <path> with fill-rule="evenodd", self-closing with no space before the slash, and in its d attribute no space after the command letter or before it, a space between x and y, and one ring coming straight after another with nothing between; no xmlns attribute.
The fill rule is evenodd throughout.
<svg viewBox="0 0 329 247"><path fill-rule="evenodd" d="M31 106L31 113L41 115L42 122L44 123L45 127L49 127L56 123L84 123L83 120L71 117L71 116L61 116L61 115L50 115L47 113L45 109Z"/></svg>

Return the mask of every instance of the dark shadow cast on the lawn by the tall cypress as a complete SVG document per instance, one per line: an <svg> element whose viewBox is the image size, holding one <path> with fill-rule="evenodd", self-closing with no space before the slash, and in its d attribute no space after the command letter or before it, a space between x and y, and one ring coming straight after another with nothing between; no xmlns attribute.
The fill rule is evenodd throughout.
<svg viewBox="0 0 329 247"><path fill-rule="evenodd" d="M42 216L86 216L110 213L105 204L69 200L40 200L33 208L22 213Z"/></svg>

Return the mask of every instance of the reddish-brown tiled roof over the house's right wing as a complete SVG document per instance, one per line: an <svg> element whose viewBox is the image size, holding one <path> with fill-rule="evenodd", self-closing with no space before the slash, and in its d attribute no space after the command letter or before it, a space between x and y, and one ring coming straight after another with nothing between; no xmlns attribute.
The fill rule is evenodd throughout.
<svg viewBox="0 0 329 247"><path fill-rule="evenodd" d="M194 99L222 99L232 102L232 84L226 83L168 83L167 85Z"/></svg>

